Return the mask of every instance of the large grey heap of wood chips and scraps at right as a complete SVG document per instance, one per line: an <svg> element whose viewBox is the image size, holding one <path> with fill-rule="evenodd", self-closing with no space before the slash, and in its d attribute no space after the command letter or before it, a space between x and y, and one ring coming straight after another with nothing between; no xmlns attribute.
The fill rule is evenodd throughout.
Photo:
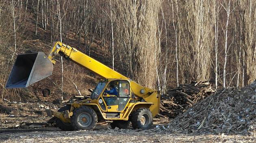
<svg viewBox="0 0 256 143"><path fill-rule="evenodd" d="M248 134L256 131L256 80L244 88L223 88L177 116L172 132Z"/></svg>

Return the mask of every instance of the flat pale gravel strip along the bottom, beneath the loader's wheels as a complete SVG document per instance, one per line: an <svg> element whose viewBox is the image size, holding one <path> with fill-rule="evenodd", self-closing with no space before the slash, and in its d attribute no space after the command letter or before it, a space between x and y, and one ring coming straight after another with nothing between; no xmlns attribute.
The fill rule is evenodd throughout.
<svg viewBox="0 0 256 143"><path fill-rule="evenodd" d="M161 129L112 130L103 127L93 131L61 131L58 128L0 129L1 143L31 142L97 142L97 143L141 143L141 142L256 142L255 136L243 135L195 135L174 134Z"/></svg>

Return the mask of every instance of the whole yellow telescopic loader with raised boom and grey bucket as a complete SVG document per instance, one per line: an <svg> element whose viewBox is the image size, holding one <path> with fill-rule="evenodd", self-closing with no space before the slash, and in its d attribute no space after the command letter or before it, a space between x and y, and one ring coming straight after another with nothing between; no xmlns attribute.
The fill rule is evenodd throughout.
<svg viewBox="0 0 256 143"><path fill-rule="evenodd" d="M88 99L67 103L58 111L46 110L57 117L62 130L93 130L98 121L111 122L111 127L149 129L159 113L157 90L143 87L117 71L85 55L76 48L54 42L48 56L42 52L18 55L6 88L24 88L52 75L54 57L61 56L92 71L102 78ZM115 91L115 92L111 92Z"/></svg>

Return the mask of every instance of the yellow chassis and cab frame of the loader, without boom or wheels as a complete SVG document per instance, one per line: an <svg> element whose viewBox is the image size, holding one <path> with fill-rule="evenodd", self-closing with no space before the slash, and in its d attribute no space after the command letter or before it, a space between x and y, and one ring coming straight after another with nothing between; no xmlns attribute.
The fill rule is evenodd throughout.
<svg viewBox="0 0 256 143"><path fill-rule="evenodd" d="M107 87L107 85L111 81L114 81L114 80L126 80L129 82L129 84L131 84L131 82L130 82L131 80L129 80L129 79L108 78L106 80L107 80L107 82L103 89L105 89ZM56 116L57 118L61 119L63 122L70 122L70 118L73 115L74 109L79 108L81 106L89 106L89 107L93 108L94 111L97 113L97 115L101 115L104 120L128 120L131 112L138 108L149 108L150 111L152 112L153 117L156 116L156 114L158 114L158 112L157 112L158 109L156 109L158 106L154 105L153 102L141 102L141 101L138 101L138 99L132 99L130 97L130 98L128 98L128 102L123 110L121 110L121 111L113 110L112 111L115 113L119 113L120 118L107 118L106 113L110 112L110 111L107 111L107 107L109 107L109 106L107 106L105 100L103 100L103 103L106 107L106 110L104 110L100 107L100 104L98 103L98 101L100 98L104 99L103 97L115 97L115 95L103 95L103 94L104 94L104 90L101 91L101 93L99 94L99 96L96 99L85 99L85 100L75 101L74 103L67 103L67 105L70 105L70 109L66 110L65 113L48 110L47 111L48 116L53 115L53 116ZM130 93L130 95L131 95L131 93ZM151 96L148 96L145 98L150 98L150 99L154 100L154 99L159 98L159 97L158 98L157 97L158 97L158 93L155 91L155 92L151 93ZM130 102L131 100L134 100L135 102ZM86 103L87 101L90 101L90 103ZM113 108L115 108L117 106L118 105L112 105Z"/></svg>

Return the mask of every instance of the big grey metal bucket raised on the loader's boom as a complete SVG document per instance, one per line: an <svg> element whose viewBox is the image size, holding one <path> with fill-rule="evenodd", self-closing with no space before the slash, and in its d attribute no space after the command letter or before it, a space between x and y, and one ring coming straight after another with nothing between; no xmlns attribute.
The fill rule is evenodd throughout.
<svg viewBox="0 0 256 143"><path fill-rule="evenodd" d="M24 88L52 75L53 65L43 53L18 55L5 88Z"/></svg>

